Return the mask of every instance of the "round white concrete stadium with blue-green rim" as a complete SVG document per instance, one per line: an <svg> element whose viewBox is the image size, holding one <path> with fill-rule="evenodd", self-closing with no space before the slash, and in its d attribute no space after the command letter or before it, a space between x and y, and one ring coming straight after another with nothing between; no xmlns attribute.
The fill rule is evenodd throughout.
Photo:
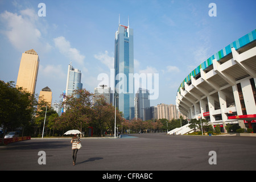
<svg viewBox="0 0 256 182"><path fill-rule="evenodd" d="M253 30L189 73L177 90L180 112L188 119L202 118L213 127L220 125L223 133L227 124L256 133L255 40Z"/></svg>

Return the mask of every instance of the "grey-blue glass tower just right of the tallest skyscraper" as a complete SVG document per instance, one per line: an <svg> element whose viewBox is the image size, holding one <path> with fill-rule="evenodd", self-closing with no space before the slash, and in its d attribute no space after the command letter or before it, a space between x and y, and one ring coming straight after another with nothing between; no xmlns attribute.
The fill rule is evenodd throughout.
<svg viewBox="0 0 256 182"><path fill-rule="evenodd" d="M148 90L142 88L138 89L135 96L135 118L140 118L142 121L151 119L150 100L148 97Z"/></svg>

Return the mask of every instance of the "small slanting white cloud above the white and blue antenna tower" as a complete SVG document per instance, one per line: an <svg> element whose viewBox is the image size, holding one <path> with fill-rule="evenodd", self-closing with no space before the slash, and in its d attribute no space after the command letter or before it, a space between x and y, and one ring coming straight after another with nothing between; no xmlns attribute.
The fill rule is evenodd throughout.
<svg viewBox="0 0 256 182"><path fill-rule="evenodd" d="M71 44L68 40L66 40L63 36L59 36L53 39L55 43L55 47L57 47L65 57L68 59L79 63L80 65L84 64L85 56L81 55L80 51L76 48L72 48Z"/></svg>

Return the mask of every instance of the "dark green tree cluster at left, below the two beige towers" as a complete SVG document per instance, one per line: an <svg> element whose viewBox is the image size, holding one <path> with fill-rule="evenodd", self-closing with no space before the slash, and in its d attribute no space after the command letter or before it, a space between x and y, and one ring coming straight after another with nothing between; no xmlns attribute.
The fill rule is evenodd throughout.
<svg viewBox="0 0 256 182"><path fill-rule="evenodd" d="M19 131L20 136L36 136L42 132L48 103L38 95L16 87L14 81L0 80L1 137L6 131ZM47 110L47 129L52 129L58 116L51 106ZM2 140L3 143L3 140Z"/></svg>

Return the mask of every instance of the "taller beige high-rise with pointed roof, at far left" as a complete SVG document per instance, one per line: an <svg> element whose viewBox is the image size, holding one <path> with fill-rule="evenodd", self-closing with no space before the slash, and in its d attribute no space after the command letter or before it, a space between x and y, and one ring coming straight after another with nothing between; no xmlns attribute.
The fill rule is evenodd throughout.
<svg viewBox="0 0 256 182"><path fill-rule="evenodd" d="M35 93L39 61L38 53L34 49L22 53L16 86L23 87L32 94Z"/></svg>

